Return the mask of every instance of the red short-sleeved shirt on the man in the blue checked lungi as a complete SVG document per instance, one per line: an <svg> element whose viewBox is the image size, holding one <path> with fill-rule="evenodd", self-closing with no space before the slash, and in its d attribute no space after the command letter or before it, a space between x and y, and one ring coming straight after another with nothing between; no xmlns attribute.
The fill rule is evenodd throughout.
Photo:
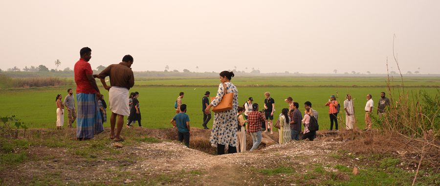
<svg viewBox="0 0 440 186"><path fill-rule="evenodd" d="M81 58L76 62L73 71L75 72L76 93L96 93L87 78L87 74L93 74L93 70L86 60Z"/></svg>

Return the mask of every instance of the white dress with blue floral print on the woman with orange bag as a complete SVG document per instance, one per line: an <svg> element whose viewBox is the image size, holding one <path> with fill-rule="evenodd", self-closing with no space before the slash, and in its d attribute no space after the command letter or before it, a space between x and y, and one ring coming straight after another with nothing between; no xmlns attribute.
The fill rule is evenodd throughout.
<svg viewBox="0 0 440 186"><path fill-rule="evenodd" d="M227 149L229 145L237 146L237 109L238 109L238 91L232 83L226 84L226 93L234 93L232 100L232 110L215 113L214 125L212 126L211 146L217 147L217 144L222 144ZM213 107L220 103L224 94L223 83L220 83L216 98L211 102Z"/></svg>

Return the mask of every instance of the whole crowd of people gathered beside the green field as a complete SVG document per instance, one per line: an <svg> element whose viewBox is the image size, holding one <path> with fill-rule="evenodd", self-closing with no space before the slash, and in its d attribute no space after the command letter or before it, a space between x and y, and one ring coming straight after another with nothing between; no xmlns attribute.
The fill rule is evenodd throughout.
<svg viewBox="0 0 440 186"><path fill-rule="evenodd" d="M72 127L72 123L77 120L77 139L90 140L104 131L103 122L107 122L107 103L99 91L95 78L101 80L104 89L109 91L110 105L110 140L123 141L120 137L124 124L124 116L127 117L127 128L133 127L132 124L141 125L141 113L139 108L139 93L130 93L129 90L134 85L134 76L131 66L133 57L125 55L122 62L107 67L99 74L93 74L88 61L91 58L91 49L84 47L80 50L80 60L76 62L74 67L75 82L77 85L76 96L77 105L75 107L72 89L67 90L67 95L62 102L63 96L58 94L56 97L57 105L57 129L62 130L64 124L64 108L68 111L68 127ZM105 78L110 77L110 86L107 85ZM206 91L202 97L202 111L204 129L209 129L207 123L211 120L211 108L215 108L223 100L226 94L230 96L229 106L227 109L217 111L213 118L213 127L211 129L210 143L213 147L217 147L217 154L243 152L246 150L246 133L250 134L253 145L250 151L257 149L262 141L262 132L270 132L273 134L273 116L275 113L275 100L270 97L270 93L264 93L264 109L259 111L258 103L253 103L254 99L249 97L242 105L238 104L238 90L231 82L234 72L220 72L220 85L215 97L209 100L210 92ZM232 94L231 94L232 93ZM127 100L128 97L128 100ZM178 140L189 147L190 140L190 124L189 116L186 114L187 106L182 104L184 93L180 92L176 99L175 109L176 116L171 119L173 127L178 130ZM335 100L335 95L330 95L329 101L325 106L329 106L330 130L338 131L338 113L340 105ZM372 95L367 95L367 103L365 106L365 122L364 130L371 130L371 113L373 112L374 102ZM226 100L226 99L225 99ZM305 140L310 141L316 138L318 112L312 109L312 103L306 101L304 103L304 115L299 110L299 103L294 102L292 97L287 97L285 101L288 108L283 108L281 114L276 118L279 119L279 142L287 142L289 140ZM390 104L390 100L385 97L385 93L381 93L379 104L377 106L377 115L381 117L385 107ZM350 94L346 95L344 101L344 110L346 115L346 129L352 130L354 125L354 104ZM244 118L243 118L244 117ZM335 130L333 130L333 124ZM302 130L304 126L304 130ZM115 128L116 127L116 128ZM302 134L302 135L301 135Z"/></svg>

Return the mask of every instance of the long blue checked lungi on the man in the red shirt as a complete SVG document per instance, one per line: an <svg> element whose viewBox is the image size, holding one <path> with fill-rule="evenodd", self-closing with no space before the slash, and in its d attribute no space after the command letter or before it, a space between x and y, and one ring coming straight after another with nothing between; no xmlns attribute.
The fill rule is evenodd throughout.
<svg viewBox="0 0 440 186"><path fill-rule="evenodd" d="M104 131L96 93L77 93L76 137L92 139Z"/></svg>

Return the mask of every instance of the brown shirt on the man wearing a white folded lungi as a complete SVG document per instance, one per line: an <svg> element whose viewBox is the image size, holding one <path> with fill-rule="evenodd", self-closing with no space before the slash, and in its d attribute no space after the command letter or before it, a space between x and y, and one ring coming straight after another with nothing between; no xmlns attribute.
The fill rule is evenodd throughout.
<svg viewBox="0 0 440 186"><path fill-rule="evenodd" d="M134 85L134 75L131 68L124 63L113 64L99 73L99 78L110 76L110 86L125 87L128 90Z"/></svg>

